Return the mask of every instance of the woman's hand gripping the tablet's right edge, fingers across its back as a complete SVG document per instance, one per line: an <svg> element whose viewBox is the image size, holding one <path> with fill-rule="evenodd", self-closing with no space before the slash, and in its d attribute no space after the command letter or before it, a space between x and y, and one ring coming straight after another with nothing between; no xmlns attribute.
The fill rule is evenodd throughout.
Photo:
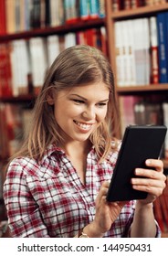
<svg viewBox="0 0 168 256"><path fill-rule="evenodd" d="M148 196L140 201L142 204L149 204L162 195L166 176L163 175L162 160L148 159L145 164L151 169L137 168L135 170L137 177L131 178L131 184L134 189L148 192Z"/></svg>

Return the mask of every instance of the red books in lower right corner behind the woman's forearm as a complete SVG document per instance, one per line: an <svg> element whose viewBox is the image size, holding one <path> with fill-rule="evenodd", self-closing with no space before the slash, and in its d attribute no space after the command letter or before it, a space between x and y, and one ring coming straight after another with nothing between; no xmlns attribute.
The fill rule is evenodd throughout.
<svg viewBox="0 0 168 256"><path fill-rule="evenodd" d="M166 187L163 194L158 197L153 203L153 210L155 219L163 233L168 232L168 178L166 180Z"/></svg>

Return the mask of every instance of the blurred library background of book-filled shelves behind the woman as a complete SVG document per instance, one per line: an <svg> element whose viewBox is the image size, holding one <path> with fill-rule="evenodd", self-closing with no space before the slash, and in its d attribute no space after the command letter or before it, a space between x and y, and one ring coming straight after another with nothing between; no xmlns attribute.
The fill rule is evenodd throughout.
<svg viewBox="0 0 168 256"><path fill-rule="evenodd" d="M0 0L0 237L10 237L5 166L28 133L47 69L75 45L99 48L114 70L121 139L129 124L168 127L168 1ZM168 175L168 133L162 151ZM168 238L168 179L153 202Z"/></svg>

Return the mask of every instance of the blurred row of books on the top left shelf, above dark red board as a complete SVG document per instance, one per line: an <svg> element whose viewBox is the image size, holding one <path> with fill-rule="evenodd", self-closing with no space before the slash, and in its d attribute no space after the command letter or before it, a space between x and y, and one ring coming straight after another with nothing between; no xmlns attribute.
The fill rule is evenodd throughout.
<svg viewBox="0 0 168 256"><path fill-rule="evenodd" d="M1 0L0 35L105 16L104 0Z"/></svg>

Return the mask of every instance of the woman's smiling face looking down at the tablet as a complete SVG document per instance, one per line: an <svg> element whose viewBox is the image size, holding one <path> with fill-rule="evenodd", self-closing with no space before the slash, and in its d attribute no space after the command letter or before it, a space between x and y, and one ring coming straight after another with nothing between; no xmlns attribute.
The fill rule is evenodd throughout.
<svg viewBox="0 0 168 256"><path fill-rule="evenodd" d="M109 97L110 90L102 82L56 93L54 114L67 142L88 140L106 117Z"/></svg>

